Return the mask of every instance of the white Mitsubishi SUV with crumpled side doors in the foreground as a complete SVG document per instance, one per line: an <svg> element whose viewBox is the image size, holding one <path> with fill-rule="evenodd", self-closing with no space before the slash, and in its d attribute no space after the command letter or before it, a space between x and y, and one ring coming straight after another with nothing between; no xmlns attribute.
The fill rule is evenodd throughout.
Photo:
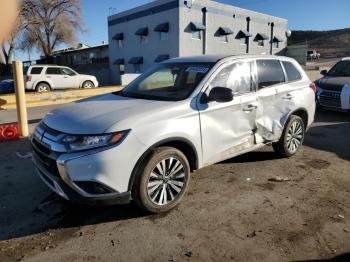
<svg viewBox="0 0 350 262"><path fill-rule="evenodd" d="M31 137L33 161L67 200L164 212L194 170L267 144L296 154L314 113L315 85L293 59L176 58L49 113Z"/></svg>

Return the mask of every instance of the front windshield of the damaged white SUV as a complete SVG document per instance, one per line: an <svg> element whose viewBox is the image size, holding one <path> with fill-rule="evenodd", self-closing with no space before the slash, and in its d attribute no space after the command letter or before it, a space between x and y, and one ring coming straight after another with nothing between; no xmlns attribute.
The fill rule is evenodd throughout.
<svg viewBox="0 0 350 262"><path fill-rule="evenodd" d="M138 77L117 94L141 99L180 101L190 96L213 65L213 63L161 64Z"/></svg>

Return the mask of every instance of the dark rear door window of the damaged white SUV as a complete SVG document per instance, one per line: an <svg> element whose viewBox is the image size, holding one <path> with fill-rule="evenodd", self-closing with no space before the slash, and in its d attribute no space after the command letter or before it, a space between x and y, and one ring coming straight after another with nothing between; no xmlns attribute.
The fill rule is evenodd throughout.
<svg viewBox="0 0 350 262"><path fill-rule="evenodd" d="M279 83L284 83L285 77L280 61L257 60L258 88L262 89Z"/></svg>

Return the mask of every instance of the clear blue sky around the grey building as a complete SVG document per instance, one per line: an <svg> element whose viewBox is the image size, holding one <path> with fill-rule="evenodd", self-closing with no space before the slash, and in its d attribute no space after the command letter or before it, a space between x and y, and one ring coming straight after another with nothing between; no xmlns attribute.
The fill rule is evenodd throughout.
<svg viewBox="0 0 350 262"><path fill-rule="evenodd" d="M150 0L81 0L86 33L81 43L99 45L108 41L107 17ZM331 30L350 27L350 0L217 0L237 7L288 19L290 30ZM34 52L32 59L38 58ZM18 52L17 58L28 59Z"/></svg>

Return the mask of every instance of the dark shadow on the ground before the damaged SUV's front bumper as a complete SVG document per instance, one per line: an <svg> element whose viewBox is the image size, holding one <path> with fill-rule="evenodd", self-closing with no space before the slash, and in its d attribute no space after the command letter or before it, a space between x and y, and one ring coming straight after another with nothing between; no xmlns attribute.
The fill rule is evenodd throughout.
<svg viewBox="0 0 350 262"><path fill-rule="evenodd" d="M72 228L147 216L134 204L90 207L61 200L43 184L30 158L29 141L0 144L0 241L49 229Z"/></svg>

